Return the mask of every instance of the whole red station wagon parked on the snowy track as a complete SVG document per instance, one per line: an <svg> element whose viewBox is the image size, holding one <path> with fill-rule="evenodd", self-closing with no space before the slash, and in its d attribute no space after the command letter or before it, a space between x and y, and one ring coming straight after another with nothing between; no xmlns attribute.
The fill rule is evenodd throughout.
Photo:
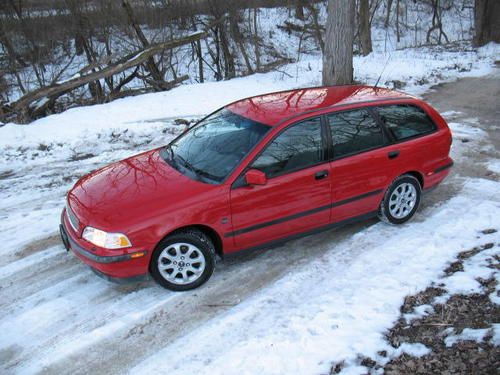
<svg viewBox="0 0 500 375"><path fill-rule="evenodd" d="M61 236L108 279L206 282L216 257L378 216L402 224L453 165L428 104L367 86L256 96L81 178Z"/></svg>

